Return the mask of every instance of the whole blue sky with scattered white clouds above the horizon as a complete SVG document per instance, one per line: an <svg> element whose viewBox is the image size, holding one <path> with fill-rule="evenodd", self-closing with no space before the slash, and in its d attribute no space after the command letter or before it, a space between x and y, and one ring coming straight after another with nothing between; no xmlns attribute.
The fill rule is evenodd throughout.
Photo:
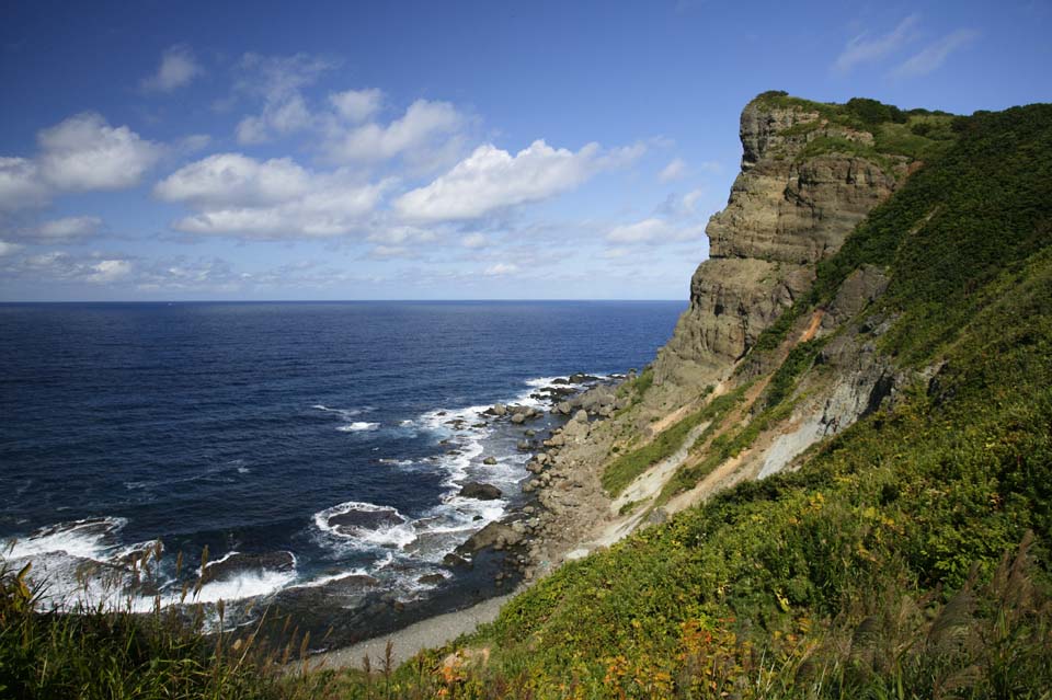
<svg viewBox="0 0 1052 700"><path fill-rule="evenodd" d="M1052 0L0 4L0 301L686 299L766 90L1052 99Z"/></svg>

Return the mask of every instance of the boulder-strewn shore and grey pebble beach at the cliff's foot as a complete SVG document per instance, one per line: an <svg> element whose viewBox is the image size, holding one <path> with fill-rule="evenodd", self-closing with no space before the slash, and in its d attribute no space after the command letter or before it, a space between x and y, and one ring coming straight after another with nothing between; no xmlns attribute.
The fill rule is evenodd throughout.
<svg viewBox="0 0 1052 700"><path fill-rule="evenodd" d="M500 403L481 411L479 420L522 427L517 448L529 454L522 483L525 497L445 556L446 583L451 585L409 605L370 596L370 600L376 598L371 605L333 626L361 629L368 620L368 638L330 634L331 644L316 650L319 658L330 666L355 665L361 663L358 651L368 653L381 640L392 640L402 658L424 646L441 645L478 622L495 618L499 606L492 600L496 596L507 597L505 592L521 590L561 562L583 555L582 544L609 521L611 503L599 484L597 468L588 467L601 464L608 455L611 440L603 437L601 426L628 405L617 395L617 387L634 376L634 369L602 378L575 374L530 394L547 404L545 411ZM546 416L557 423L537 427ZM502 494L480 480L466 483L461 495L488 498ZM467 588L471 590L464 595ZM480 615L483 609L485 615ZM459 616L472 622L461 623ZM426 641L421 641L421 629L428 630Z"/></svg>

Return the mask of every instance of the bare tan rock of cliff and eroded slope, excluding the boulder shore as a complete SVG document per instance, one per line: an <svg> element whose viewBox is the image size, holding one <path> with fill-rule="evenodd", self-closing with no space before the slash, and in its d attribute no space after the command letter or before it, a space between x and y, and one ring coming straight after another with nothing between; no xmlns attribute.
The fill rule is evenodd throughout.
<svg viewBox="0 0 1052 700"><path fill-rule="evenodd" d="M845 124L821 106L765 94L742 111L741 172L727 207L706 229L710 257L690 282L689 309L648 370L652 387L631 411L593 413L587 421L579 416L546 443L553 449L531 462L539 474L531 483L545 508L540 536L529 548L535 569L548 571L568 556L608 546L742 479L776 473L893 392L894 371L873 356L871 338L843 335L824 351L838 370L836 379L798 405L777 435L769 431L691 490L655 503L674 473L697 460L687 450L653 466L617 497L601 483L611 450L645 441L710 400L709 392L719 395L741 383L734 368L808 291L816 264L836 253L867 214L921 164L905 154L877 153L871 130ZM860 148L824 147L837 139ZM797 324L793 340L831 335L885 285L880 269L858 271L828 308ZM759 368L750 368L746 377L756 374ZM765 385L754 385L750 392L758 395ZM695 427L694 435L707 425Z"/></svg>

